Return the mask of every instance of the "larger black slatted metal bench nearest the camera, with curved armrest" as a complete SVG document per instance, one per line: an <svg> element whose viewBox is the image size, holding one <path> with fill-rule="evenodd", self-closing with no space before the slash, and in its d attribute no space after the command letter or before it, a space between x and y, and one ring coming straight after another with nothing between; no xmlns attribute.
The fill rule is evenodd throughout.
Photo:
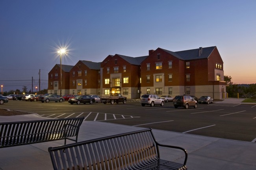
<svg viewBox="0 0 256 170"><path fill-rule="evenodd" d="M182 150L184 163L160 159L159 147ZM187 170L186 150L159 144L151 129L49 147L48 152L54 170Z"/></svg>

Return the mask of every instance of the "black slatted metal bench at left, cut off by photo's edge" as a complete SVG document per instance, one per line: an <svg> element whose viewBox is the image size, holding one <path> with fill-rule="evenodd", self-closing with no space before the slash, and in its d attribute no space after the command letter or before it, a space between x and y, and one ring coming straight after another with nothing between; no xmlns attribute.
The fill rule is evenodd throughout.
<svg viewBox="0 0 256 170"><path fill-rule="evenodd" d="M0 148L24 144L78 139L84 117L0 123ZM70 137L76 137L72 139Z"/></svg>

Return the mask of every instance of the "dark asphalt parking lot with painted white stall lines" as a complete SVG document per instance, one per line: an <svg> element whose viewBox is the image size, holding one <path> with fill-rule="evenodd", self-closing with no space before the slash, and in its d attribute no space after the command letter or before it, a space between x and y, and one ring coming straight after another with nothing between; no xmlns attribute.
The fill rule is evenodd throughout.
<svg viewBox="0 0 256 170"><path fill-rule="evenodd" d="M195 108L177 108L172 102L164 106L141 106L139 101L126 104L69 104L68 102L12 101L0 108L37 113L43 117L85 117L87 121L104 121L172 132L255 142L256 105L198 104Z"/></svg>

